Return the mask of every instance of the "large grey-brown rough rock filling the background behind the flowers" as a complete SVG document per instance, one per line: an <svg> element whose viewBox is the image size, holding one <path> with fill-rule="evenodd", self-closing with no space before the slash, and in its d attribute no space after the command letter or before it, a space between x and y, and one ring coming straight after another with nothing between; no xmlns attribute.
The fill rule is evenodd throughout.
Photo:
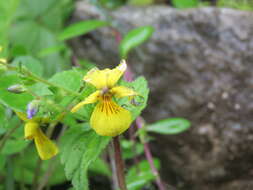
<svg viewBox="0 0 253 190"><path fill-rule="evenodd" d="M192 121L187 132L153 142L164 181L185 190L253 189L253 13L154 6L111 14L123 32L143 25L156 29L128 59L151 88L144 118ZM78 2L73 20L92 18L103 15ZM119 62L109 28L70 44L100 67Z"/></svg>

